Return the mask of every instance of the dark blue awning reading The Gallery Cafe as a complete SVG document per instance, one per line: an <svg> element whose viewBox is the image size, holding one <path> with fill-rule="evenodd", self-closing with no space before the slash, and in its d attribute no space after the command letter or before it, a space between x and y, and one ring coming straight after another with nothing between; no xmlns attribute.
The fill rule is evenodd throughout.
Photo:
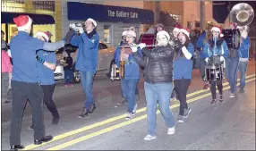
<svg viewBox="0 0 256 151"><path fill-rule="evenodd" d="M111 22L154 22L154 13L152 11L138 8L68 2L67 9L68 20L70 21L85 21L88 18L92 18L96 21Z"/></svg>

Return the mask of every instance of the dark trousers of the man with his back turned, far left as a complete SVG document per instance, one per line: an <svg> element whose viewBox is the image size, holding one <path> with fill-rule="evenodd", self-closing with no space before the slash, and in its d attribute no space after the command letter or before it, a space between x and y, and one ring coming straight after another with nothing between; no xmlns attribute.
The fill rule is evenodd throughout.
<svg viewBox="0 0 256 151"><path fill-rule="evenodd" d="M10 145L21 144L21 122L23 109L30 100L32 121L34 124L34 139L41 139L46 135L44 113L42 111L43 90L38 83L28 83L12 80L13 115L11 119Z"/></svg>

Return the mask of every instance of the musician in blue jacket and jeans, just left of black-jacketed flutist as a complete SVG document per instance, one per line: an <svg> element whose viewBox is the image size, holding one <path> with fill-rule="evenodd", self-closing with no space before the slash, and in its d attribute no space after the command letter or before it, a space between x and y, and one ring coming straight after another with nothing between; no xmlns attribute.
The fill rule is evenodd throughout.
<svg viewBox="0 0 256 151"><path fill-rule="evenodd" d="M128 30L126 32L126 42L128 46L136 45L134 43L136 39L136 33L133 30ZM139 50L141 53L141 50ZM142 54L141 54L142 55ZM121 80L121 87L124 94L124 99L128 101L128 110L126 119L131 119L132 115L136 113L136 88L138 82L140 80L140 66L138 63L135 62L132 56L132 49L125 48L124 54L122 53L122 48L118 47L116 49L116 57L115 57L115 64L116 67L120 67L120 61L125 61L124 64L124 79Z"/></svg>

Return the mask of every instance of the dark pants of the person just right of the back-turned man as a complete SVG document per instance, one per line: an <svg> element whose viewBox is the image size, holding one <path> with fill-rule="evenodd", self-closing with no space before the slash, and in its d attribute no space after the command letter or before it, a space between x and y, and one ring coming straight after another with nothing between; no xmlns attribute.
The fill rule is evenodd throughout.
<svg viewBox="0 0 256 151"><path fill-rule="evenodd" d="M53 85L41 85L44 92L44 102L47 105L47 109L52 113L54 118L59 118L60 115L56 108L55 102L53 100L53 94L55 91L55 84Z"/></svg>

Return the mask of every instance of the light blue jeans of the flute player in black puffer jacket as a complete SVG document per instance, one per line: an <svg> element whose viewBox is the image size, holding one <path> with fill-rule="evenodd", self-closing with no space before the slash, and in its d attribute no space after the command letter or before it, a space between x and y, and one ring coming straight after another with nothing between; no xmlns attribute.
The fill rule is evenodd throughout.
<svg viewBox="0 0 256 151"><path fill-rule="evenodd" d="M171 109L169 108L170 95L173 87L173 83L150 84L146 81L144 82L145 96L147 101L149 135L156 136L157 103L159 104L160 112L164 116L166 126L168 128L173 128L175 126L175 118Z"/></svg>

